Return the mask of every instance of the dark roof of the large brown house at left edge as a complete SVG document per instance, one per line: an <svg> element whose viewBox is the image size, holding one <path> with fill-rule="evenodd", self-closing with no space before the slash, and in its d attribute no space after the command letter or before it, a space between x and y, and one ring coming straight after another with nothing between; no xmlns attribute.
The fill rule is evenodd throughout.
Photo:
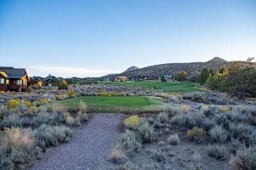
<svg viewBox="0 0 256 170"><path fill-rule="evenodd" d="M26 69L14 69L14 67L0 67L0 71L7 74L8 78L22 78L26 75Z"/></svg>

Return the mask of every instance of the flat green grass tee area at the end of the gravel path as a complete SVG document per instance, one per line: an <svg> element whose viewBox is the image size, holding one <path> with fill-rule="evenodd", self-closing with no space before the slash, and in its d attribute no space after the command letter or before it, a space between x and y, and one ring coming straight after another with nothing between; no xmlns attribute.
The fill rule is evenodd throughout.
<svg viewBox="0 0 256 170"><path fill-rule="evenodd" d="M160 112L164 103L157 97L102 97L85 96L74 97L51 103L46 107L50 109L56 104L63 105L66 110L76 112L79 110L79 102L87 104L88 112L121 112L121 113L140 113L140 112Z"/></svg>

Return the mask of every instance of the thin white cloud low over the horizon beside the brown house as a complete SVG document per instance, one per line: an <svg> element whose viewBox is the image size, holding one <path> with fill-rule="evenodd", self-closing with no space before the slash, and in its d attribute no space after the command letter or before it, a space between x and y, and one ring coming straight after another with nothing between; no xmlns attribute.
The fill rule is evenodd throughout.
<svg viewBox="0 0 256 170"><path fill-rule="evenodd" d="M53 66L45 66L45 65L33 65L29 66L28 70L33 74L40 75L55 75L55 76L63 76L63 77L87 77L87 76L104 76L112 73L121 73L122 71L117 70L94 70L94 69L83 69L76 67L53 67ZM30 73L29 73L30 74Z"/></svg>

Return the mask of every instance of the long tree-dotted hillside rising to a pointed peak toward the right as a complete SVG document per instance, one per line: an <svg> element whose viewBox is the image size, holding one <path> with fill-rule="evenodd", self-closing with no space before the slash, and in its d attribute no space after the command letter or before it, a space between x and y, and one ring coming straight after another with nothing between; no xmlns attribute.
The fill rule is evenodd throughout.
<svg viewBox="0 0 256 170"><path fill-rule="evenodd" d="M160 76L160 75L176 75L181 71L186 71L189 75L198 75L202 72L203 67L211 68L217 71L221 66L226 65L227 67L233 61L226 61L222 58L215 57L206 62L194 62L194 63L165 63L160 65L152 65L144 67L142 69L136 69L133 71L125 71L114 76ZM246 63L245 61L242 61ZM106 77L106 76L104 76Z"/></svg>

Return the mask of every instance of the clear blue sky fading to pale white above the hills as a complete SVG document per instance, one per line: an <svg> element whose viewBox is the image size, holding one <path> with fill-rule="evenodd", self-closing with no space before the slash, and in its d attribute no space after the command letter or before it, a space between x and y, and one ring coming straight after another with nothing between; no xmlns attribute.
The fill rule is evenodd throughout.
<svg viewBox="0 0 256 170"><path fill-rule="evenodd" d="M0 0L0 66L104 76L133 65L256 58L255 0Z"/></svg>

